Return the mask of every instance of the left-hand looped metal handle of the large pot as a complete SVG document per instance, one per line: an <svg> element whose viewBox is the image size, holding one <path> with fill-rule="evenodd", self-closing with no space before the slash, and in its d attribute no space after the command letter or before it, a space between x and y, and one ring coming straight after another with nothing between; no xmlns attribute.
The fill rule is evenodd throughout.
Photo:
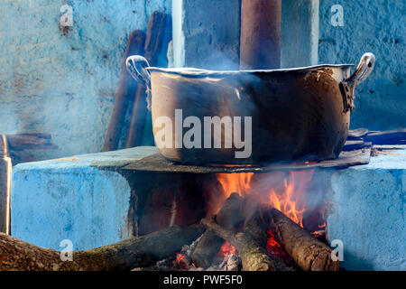
<svg viewBox="0 0 406 289"><path fill-rule="evenodd" d="M140 55L132 55L125 60L127 71L136 81L140 81L146 87L147 108L151 111L151 72L146 70L149 66L150 63Z"/></svg>

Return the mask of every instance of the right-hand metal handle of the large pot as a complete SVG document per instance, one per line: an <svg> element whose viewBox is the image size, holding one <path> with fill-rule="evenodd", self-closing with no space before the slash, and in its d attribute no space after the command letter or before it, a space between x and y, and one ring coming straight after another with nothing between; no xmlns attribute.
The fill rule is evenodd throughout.
<svg viewBox="0 0 406 289"><path fill-rule="evenodd" d="M375 56L371 52L364 53L358 63L354 73L346 80L340 83L340 90L344 100L344 112L352 111L355 108L355 88L364 81L374 70Z"/></svg>

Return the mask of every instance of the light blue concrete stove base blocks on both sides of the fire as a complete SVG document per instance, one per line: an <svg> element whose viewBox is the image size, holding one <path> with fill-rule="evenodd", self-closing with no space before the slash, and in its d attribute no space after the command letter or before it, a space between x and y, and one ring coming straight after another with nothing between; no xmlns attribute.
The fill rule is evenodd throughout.
<svg viewBox="0 0 406 289"><path fill-rule="evenodd" d="M406 270L406 145L380 149L331 178L328 238L343 242L348 270ZM68 238L75 250L130 237L132 185L120 169L156 153L136 147L16 165L12 235L54 249Z"/></svg>

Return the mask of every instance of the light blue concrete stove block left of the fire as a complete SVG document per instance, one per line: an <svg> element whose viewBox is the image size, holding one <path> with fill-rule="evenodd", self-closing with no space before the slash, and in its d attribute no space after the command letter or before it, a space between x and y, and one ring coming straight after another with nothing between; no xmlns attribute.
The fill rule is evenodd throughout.
<svg viewBox="0 0 406 289"><path fill-rule="evenodd" d="M70 239L75 250L84 250L130 237L130 186L120 173L106 167L120 167L156 153L155 147L137 147L17 164L12 235L57 250L63 239Z"/></svg>

